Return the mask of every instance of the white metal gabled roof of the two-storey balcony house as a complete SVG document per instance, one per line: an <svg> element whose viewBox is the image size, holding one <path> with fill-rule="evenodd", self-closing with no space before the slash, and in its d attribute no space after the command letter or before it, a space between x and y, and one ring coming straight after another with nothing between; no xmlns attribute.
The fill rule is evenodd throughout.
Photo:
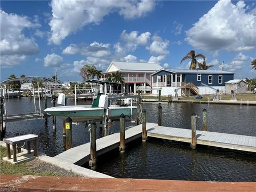
<svg viewBox="0 0 256 192"><path fill-rule="evenodd" d="M108 66L106 73L108 73L111 65L115 65L119 71L147 71L154 73L159 69L163 69L162 66L156 63L143 63L143 62L117 62L112 61Z"/></svg>

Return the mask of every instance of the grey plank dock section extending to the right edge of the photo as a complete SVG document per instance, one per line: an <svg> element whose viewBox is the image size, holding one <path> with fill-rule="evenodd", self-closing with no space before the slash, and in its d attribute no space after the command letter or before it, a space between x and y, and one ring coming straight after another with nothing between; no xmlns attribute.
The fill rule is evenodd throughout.
<svg viewBox="0 0 256 192"><path fill-rule="evenodd" d="M147 136L173 141L191 142L191 130L174 127L154 126L147 130ZM196 144L256 152L256 137L196 131Z"/></svg>

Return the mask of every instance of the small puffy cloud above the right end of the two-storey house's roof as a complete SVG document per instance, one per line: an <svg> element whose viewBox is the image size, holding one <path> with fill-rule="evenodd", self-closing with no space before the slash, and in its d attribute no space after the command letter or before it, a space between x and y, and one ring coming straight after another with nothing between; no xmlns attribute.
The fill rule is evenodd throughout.
<svg viewBox="0 0 256 192"><path fill-rule="evenodd" d="M167 48L169 46L169 41L168 40L163 40L159 36L154 36L153 42L149 47L146 49L150 51L151 54L154 55L167 55L169 54L169 51L167 51Z"/></svg>

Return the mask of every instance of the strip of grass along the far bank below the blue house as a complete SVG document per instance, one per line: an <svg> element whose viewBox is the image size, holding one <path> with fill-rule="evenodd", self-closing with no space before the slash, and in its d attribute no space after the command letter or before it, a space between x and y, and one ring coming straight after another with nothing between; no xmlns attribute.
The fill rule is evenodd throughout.
<svg viewBox="0 0 256 192"><path fill-rule="evenodd" d="M195 96L191 97L180 97L182 100L190 100L190 101L208 101L208 99L213 99L214 94L207 94L207 95L202 95L202 99L195 99ZM231 94L222 94L219 95L219 98L221 97L221 100L230 100L232 98ZM155 95L143 95L143 99L158 99L158 96ZM162 100L167 100L168 97L162 96ZM236 94L236 99L237 100L244 100L244 101L256 101L256 94L253 93L246 93L246 94Z"/></svg>

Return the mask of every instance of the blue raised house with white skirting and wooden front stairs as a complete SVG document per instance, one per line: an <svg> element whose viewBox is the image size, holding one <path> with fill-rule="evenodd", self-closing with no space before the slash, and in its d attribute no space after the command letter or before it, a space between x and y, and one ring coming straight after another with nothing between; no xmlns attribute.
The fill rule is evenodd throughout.
<svg viewBox="0 0 256 192"><path fill-rule="evenodd" d="M152 87L162 87L163 95L174 95L175 89L179 96L212 94L215 91L201 83L225 92L225 82L234 79L234 73L222 70L160 69L151 75L151 79ZM153 90L153 93L157 94L157 90Z"/></svg>

